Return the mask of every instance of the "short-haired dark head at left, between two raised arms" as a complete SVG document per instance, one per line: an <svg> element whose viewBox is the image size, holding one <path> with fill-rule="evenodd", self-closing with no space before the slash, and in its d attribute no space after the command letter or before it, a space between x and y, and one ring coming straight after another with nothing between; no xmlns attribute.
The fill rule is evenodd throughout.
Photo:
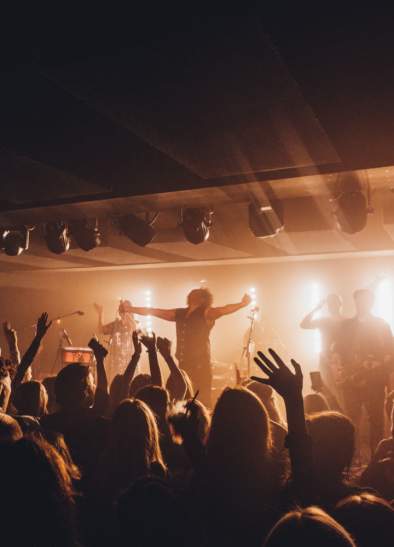
<svg viewBox="0 0 394 547"><path fill-rule="evenodd" d="M93 404L94 393L93 374L86 365L67 365L56 376L56 401L64 410L88 408Z"/></svg>

